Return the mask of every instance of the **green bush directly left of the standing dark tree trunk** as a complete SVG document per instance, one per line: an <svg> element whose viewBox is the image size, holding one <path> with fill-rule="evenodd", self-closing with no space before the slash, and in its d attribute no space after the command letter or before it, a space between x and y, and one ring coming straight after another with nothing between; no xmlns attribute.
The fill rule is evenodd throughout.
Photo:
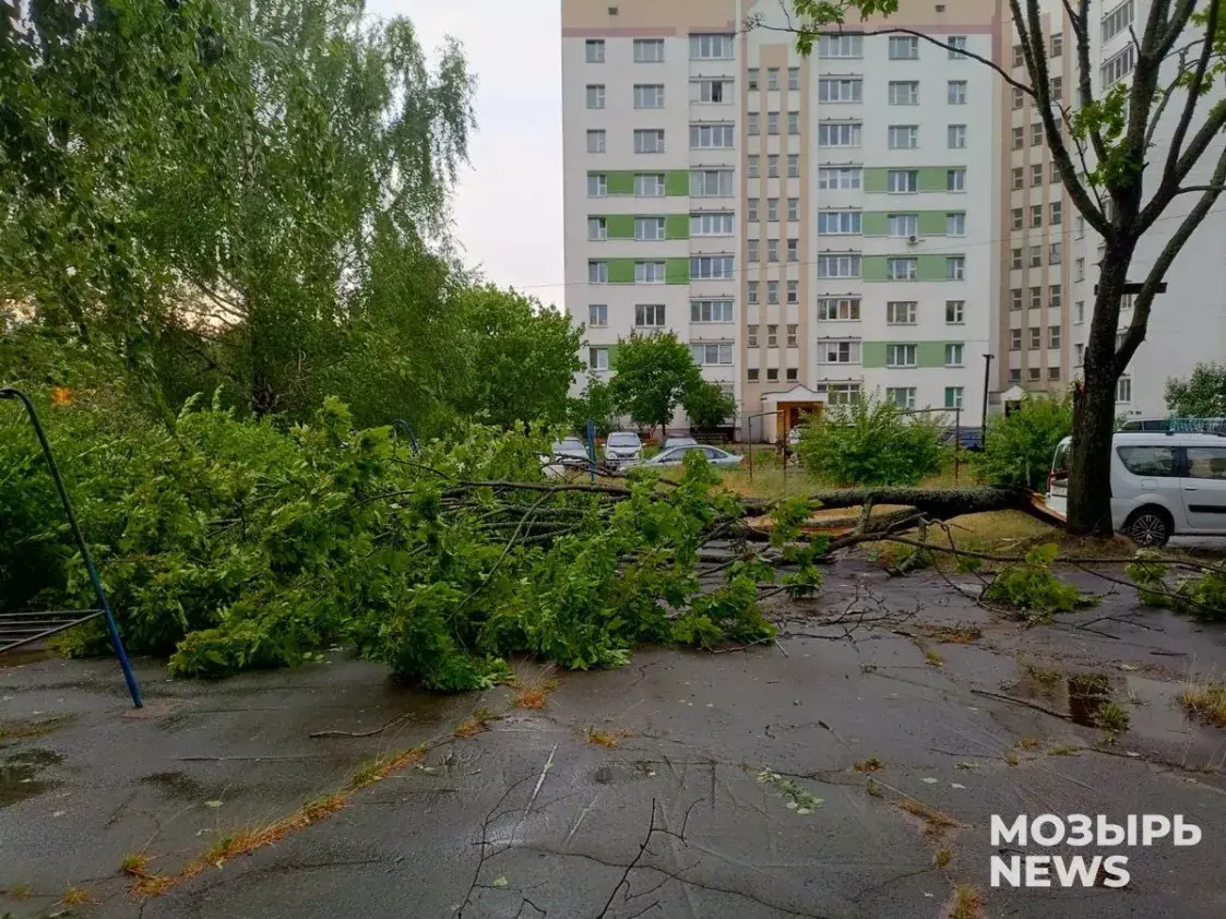
<svg viewBox="0 0 1226 919"><path fill-rule="evenodd" d="M1047 491L1056 446L1073 433L1073 397L1024 396L1008 418L988 422L975 469L992 485Z"/></svg>

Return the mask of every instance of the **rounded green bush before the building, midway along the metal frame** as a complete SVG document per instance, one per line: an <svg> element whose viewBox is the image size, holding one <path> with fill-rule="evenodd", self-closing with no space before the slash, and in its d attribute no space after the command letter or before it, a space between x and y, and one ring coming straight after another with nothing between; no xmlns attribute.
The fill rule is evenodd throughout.
<svg viewBox="0 0 1226 919"><path fill-rule="evenodd" d="M831 406L808 422L796 452L815 479L836 485L915 485L940 472L940 423L878 397Z"/></svg>

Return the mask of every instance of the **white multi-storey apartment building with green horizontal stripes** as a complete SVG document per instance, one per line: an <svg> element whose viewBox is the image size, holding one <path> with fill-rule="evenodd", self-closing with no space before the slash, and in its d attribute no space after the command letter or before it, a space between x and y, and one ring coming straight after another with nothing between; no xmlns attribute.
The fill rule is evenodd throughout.
<svg viewBox="0 0 1226 919"><path fill-rule="evenodd" d="M891 22L992 56L993 6ZM676 331L748 437L790 391L977 418L1000 94L915 37L802 58L785 25L775 0L564 0L566 300L590 366L634 330Z"/></svg>

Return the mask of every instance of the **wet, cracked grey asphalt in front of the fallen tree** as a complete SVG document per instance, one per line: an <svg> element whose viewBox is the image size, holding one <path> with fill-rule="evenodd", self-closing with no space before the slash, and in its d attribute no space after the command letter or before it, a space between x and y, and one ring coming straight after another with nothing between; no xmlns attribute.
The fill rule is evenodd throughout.
<svg viewBox="0 0 1226 919"><path fill-rule="evenodd" d="M60 718L0 740L0 915L911 919L948 915L969 883L983 917L1221 917L1226 733L1186 720L1177 695L1226 665L1226 629L1074 580L1113 593L1025 629L940 575L845 560L817 600L772 607L777 643L644 648L620 670L554 674L541 711L508 687L400 687L343 652L222 684L141 662L141 713L113 660L0 667L0 724ZM1060 681L1036 684L1032 664ZM1064 676L1090 671L1130 714L1110 744L1070 720ZM478 708L501 717L452 739ZM129 893L125 855L174 874L427 741L276 844ZM797 794L821 803L803 814ZM989 887L991 815L1043 812L1183 814L1204 838L1127 852L1124 890ZM91 902L59 904L71 886Z"/></svg>

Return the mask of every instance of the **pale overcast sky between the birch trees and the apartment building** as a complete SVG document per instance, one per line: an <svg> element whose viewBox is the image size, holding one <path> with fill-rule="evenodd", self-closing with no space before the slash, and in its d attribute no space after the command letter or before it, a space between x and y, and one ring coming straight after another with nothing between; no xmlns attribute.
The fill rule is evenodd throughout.
<svg viewBox="0 0 1226 919"><path fill-rule="evenodd" d="M463 44L476 74L472 165L455 197L466 262L563 306L562 48L558 0L369 0L407 16L427 50Z"/></svg>

